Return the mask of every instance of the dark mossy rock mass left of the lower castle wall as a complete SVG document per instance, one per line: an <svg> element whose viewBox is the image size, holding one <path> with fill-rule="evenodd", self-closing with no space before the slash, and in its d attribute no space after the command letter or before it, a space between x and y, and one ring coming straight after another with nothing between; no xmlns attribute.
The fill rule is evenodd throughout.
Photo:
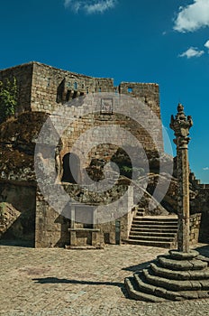
<svg viewBox="0 0 209 316"><path fill-rule="evenodd" d="M2 237L34 239L35 140L44 113L25 112L0 125L0 205ZM17 210L18 209L18 210Z"/></svg>

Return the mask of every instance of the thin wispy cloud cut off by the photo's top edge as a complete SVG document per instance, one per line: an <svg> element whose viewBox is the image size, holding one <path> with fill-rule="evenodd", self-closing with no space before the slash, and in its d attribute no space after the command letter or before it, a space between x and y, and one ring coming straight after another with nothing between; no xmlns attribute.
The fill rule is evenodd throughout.
<svg viewBox="0 0 209 316"><path fill-rule="evenodd" d="M65 0L65 7L71 8L78 13L84 11L86 14L103 14L109 9L113 9L117 0Z"/></svg>

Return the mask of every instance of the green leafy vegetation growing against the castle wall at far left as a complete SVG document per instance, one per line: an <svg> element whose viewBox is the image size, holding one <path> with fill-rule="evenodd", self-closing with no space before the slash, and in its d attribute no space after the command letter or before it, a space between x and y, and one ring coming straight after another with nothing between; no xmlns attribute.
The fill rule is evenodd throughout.
<svg viewBox="0 0 209 316"><path fill-rule="evenodd" d="M17 106L17 84L16 79L6 79L5 83L0 81L0 124L8 117L14 116Z"/></svg>

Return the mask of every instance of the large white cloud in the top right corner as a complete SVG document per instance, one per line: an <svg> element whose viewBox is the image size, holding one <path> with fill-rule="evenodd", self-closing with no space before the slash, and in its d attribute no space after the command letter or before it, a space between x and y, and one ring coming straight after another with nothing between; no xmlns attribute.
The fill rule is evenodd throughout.
<svg viewBox="0 0 209 316"><path fill-rule="evenodd" d="M181 6L179 10L174 25L177 32L195 32L209 26L209 0L194 0L192 5Z"/></svg>

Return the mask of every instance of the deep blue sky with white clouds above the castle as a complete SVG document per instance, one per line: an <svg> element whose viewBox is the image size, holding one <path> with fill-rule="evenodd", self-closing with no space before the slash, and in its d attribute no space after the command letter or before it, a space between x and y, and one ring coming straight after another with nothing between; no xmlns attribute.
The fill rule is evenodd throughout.
<svg viewBox="0 0 209 316"><path fill-rule="evenodd" d="M115 85L159 83L171 139L177 103L193 116L190 166L209 183L209 0L1 1L0 26L0 69L36 60Z"/></svg>

